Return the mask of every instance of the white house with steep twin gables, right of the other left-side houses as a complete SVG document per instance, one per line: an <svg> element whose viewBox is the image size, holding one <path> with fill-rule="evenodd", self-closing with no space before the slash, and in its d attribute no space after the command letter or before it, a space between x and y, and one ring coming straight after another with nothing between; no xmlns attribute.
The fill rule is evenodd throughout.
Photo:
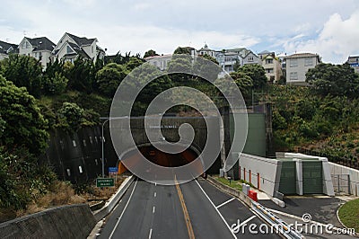
<svg viewBox="0 0 359 239"><path fill-rule="evenodd" d="M74 62L74 59L78 57L96 61L98 57L105 57L105 51L97 45L97 42L96 38L77 37L66 32L58 41L52 53L55 58L70 62Z"/></svg>

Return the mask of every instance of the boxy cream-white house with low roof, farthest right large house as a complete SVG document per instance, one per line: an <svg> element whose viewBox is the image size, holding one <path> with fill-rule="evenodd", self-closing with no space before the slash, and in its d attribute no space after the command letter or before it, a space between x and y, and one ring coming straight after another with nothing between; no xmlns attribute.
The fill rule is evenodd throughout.
<svg viewBox="0 0 359 239"><path fill-rule="evenodd" d="M307 85L305 74L320 64L320 56L312 53L297 53L285 58L286 84Z"/></svg>

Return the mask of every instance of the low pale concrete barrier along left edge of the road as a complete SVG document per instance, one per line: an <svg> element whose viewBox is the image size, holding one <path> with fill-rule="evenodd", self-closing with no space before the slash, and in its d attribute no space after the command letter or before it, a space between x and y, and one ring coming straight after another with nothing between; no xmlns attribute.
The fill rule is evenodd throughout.
<svg viewBox="0 0 359 239"><path fill-rule="evenodd" d="M119 199L122 198L122 196L127 191L129 185L131 185L132 181L134 180L134 175L128 177L125 181L122 182L121 186L118 188L118 191L105 203L105 206L93 212L93 215L97 222L99 222L103 217L109 215L109 213L112 211L113 208L115 208L115 206L118 204Z"/></svg>

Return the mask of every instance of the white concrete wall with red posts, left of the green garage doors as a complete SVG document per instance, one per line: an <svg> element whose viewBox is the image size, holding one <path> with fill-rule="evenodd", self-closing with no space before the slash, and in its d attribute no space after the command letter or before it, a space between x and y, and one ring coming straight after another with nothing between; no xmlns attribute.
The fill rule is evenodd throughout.
<svg viewBox="0 0 359 239"><path fill-rule="evenodd" d="M240 179L249 181L258 190L276 197L279 189L282 162L256 155L241 154L239 159Z"/></svg>

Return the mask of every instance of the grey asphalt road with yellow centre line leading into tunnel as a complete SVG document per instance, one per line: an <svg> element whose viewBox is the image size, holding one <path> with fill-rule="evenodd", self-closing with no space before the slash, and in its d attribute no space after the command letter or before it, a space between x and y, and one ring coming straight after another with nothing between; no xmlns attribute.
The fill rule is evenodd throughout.
<svg viewBox="0 0 359 239"><path fill-rule="evenodd" d="M166 155L156 156L161 164L173 164ZM241 225L240 230L232 232L233 224ZM99 238L280 238L258 235L253 226L250 233L250 224L258 231L264 222L202 178L171 186L136 179Z"/></svg>

